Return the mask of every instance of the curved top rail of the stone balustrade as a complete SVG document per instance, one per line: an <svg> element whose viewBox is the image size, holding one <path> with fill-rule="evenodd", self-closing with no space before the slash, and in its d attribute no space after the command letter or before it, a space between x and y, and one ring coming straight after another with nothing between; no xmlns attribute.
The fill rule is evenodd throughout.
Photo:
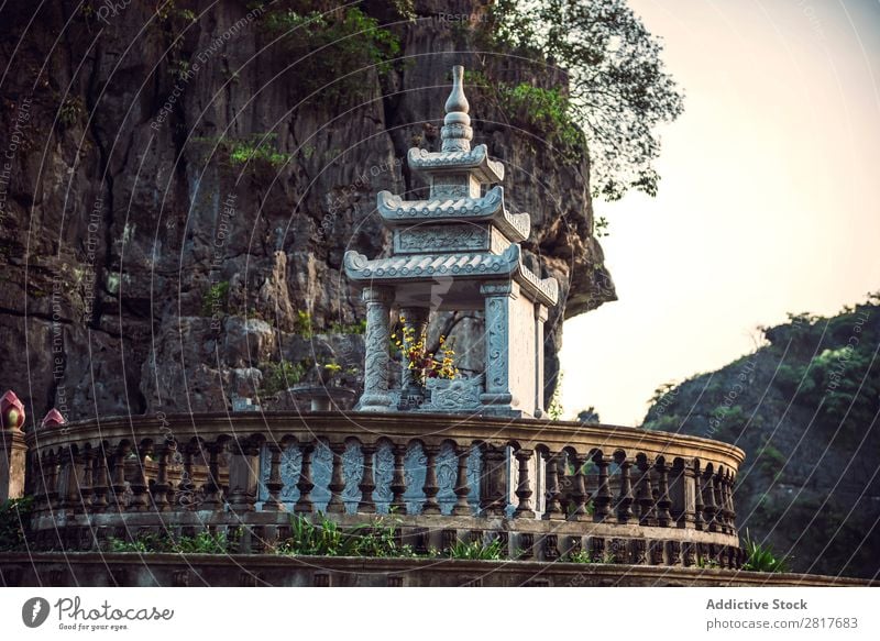
<svg viewBox="0 0 880 641"><path fill-rule="evenodd" d="M482 441L493 445L515 442L521 447L546 446L551 451L573 447L579 452L602 450L613 454L623 450L674 457L700 458L736 469L745 458L743 450L728 443L701 436L646 431L622 426L584 426L573 421L510 419L503 417L466 417L439 413L405 412L237 412L176 413L134 417L106 417L76 421L58 428L31 430L26 433L29 447L55 449L74 443L144 439L191 439L211 441L218 436L244 439L262 436L272 442L286 438L296 440L327 438L341 441L355 438L376 442L383 438L394 441L420 439Z"/></svg>

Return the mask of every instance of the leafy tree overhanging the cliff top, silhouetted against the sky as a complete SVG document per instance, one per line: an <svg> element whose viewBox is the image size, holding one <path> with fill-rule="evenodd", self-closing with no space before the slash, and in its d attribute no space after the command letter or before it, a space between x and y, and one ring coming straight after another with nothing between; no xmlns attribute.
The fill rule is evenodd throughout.
<svg viewBox="0 0 880 641"><path fill-rule="evenodd" d="M657 194L656 128L682 113L662 47L626 0L497 0L496 42L569 74L568 109L586 133L593 194Z"/></svg>

